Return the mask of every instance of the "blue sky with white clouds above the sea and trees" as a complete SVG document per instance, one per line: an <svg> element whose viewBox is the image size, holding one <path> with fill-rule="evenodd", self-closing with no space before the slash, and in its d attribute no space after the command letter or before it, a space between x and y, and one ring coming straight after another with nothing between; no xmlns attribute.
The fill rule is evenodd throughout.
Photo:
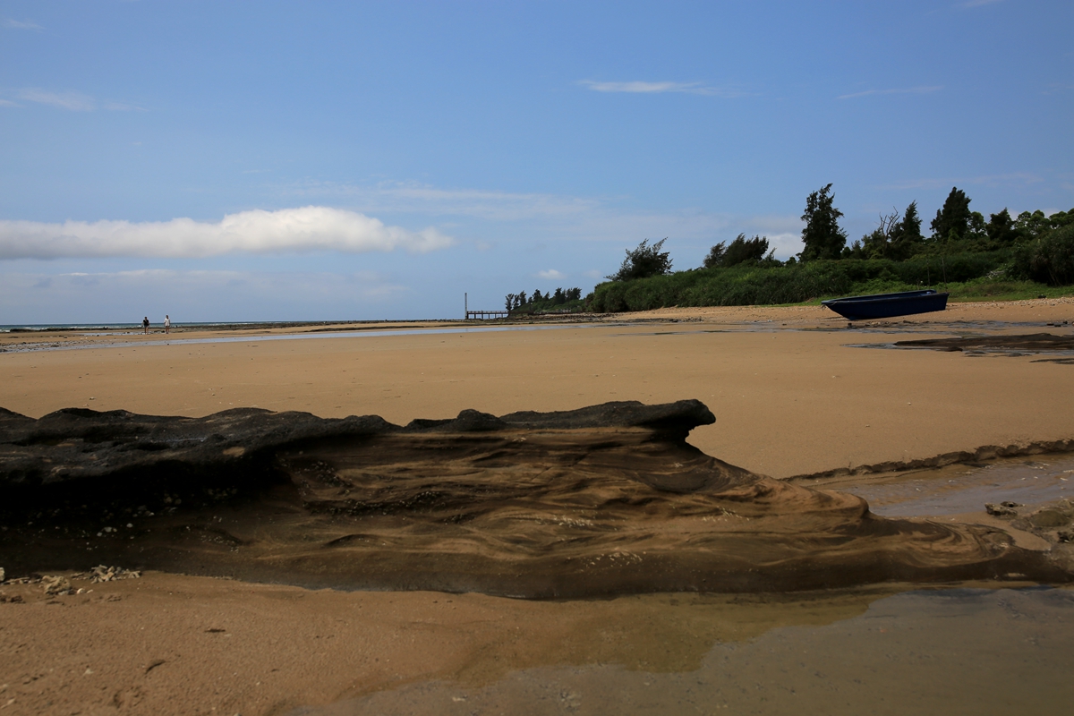
<svg viewBox="0 0 1074 716"><path fill-rule="evenodd" d="M419 319L952 186L1074 206L1074 3L0 1L0 323Z"/></svg>

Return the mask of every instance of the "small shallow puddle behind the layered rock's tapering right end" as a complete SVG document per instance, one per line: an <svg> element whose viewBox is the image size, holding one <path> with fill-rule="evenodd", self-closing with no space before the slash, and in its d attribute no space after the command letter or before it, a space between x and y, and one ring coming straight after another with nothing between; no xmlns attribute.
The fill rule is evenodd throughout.
<svg viewBox="0 0 1074 716"><path fill-rule="evenodd" d="M948 465L861 484L827 484L869 501L885 517L931 517L982 512L986 502L1037 505L1074 499L1074 455L1000 461L988 465Z"/></svg>

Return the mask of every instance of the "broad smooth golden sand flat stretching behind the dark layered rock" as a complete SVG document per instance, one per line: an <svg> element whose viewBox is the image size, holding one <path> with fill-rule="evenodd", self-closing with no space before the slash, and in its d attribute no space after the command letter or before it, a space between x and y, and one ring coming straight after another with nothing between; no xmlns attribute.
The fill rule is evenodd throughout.
<svg viewBox="0 0 1074 716"><path fill-rule="evenodd" d="M365 335L384 327L373 324L333 338L318 338L323 328L286 332L306 336L300 340L252 340L282 331L47 340L8 334L0 348L82 347L0 353L0 407L38 418L69 407L200 417L256 406L405 424L466 408L498 415L696 398L716 423L696 429L693 444L786 478L1074 437L1070 366L1036 363L1035 355L846 347L974 331L1070 335L1074 328L1062 321L1074 322L1072 298L953 304L943 313L854 328L821 307L729 307L539 331L413 335L408 331L421 328L400 326L396 335ZM242 341L183 342L221 338ZM87 347L95 342L120 347Z"/></svg>

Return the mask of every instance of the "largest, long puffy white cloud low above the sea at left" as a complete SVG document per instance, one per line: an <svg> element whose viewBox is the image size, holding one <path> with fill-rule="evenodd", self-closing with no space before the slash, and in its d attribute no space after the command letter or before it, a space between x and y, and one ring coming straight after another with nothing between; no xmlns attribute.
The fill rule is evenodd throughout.
<svg viewBox="0 0 1074 716"><path fill-rule="evenodd" d="M424 253L454 243L436 229L410 232L354 211L326 206L229 214L221 221L0 220L0 259L61 257L203 258L223 253L404 249Z"/></svg>

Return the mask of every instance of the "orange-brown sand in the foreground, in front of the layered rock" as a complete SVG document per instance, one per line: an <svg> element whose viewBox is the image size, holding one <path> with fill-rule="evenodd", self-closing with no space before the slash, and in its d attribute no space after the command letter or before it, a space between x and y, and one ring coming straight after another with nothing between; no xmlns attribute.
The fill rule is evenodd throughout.
<svg viewBox="0 0 1074 716"><path fill-rule="evenodd" d="M5 713L286 714L430 680L480 688L521 669L688 672L714 643L831 624L889 594L547 602L162 573L73 584L92 591L4 587L26 599L0 604Z"/></svg>

